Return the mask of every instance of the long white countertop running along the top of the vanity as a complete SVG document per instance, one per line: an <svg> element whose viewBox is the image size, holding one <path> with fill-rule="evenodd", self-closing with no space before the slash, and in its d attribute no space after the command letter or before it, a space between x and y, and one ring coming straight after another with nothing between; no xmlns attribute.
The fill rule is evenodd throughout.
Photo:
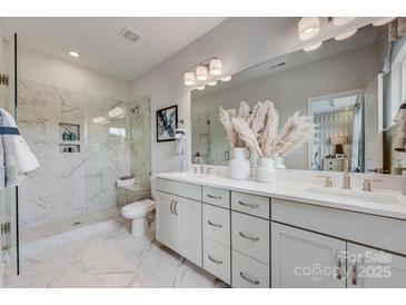
<svg viewBox="0 0 406 305"><path fill-rule="evenodd" d="M366 193L359 189L344 190L339 187L325 188L321 184L316 185L297 180L277 179L275 184L267 184L255 180L234 180L221 175L197 175L179 171L161 173L155 176L164 179L406 220L406 196L399 190L374 189L373 193Z"/></svg>

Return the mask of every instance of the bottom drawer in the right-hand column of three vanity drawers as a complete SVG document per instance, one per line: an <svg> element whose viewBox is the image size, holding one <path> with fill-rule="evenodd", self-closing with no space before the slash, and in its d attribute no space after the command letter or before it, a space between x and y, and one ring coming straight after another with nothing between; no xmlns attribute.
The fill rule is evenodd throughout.
<svg viewBox="0 0 406 305"><path fill-rule="evenodd" d="M232 250L232 287L269 288L269 265Z"/></svg>

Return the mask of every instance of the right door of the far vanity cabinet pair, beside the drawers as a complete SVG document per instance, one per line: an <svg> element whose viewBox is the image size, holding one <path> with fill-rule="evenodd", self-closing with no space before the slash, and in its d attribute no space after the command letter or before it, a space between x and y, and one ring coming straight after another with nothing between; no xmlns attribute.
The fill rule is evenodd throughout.
<svg viewBox="0 0 406 305"><path fill-rule="evenodd" d="M201 203L177 197L175 213L179 222L179 254L201 266Z"/></svg>

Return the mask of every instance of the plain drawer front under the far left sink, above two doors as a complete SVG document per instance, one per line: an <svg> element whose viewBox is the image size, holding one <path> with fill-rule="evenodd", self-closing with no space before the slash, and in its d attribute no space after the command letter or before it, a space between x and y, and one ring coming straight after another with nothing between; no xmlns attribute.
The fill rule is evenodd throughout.
<svg viewBox="0 0 406 305"><path fill-rule="evenodd" d="M201 186L157 178L157 190L201 201Z"/></svg>

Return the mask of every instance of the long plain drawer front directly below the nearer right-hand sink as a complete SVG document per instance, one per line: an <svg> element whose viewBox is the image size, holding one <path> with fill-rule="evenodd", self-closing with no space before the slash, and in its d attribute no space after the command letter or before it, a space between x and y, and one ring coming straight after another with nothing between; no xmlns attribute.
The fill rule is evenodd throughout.
<svg viewBox="0 0 406 305"><path fill-rule="evenodd" d="M406 220L274 198L271 220L406 255Z"/></svg>

